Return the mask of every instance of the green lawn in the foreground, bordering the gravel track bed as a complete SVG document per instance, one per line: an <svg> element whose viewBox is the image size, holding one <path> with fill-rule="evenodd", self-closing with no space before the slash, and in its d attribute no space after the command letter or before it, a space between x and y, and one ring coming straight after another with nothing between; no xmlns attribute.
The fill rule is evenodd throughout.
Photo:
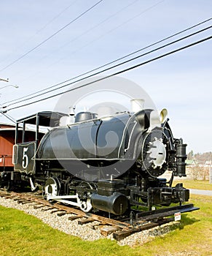
<svg viewBox="0 0 212 256"><path fill-rule="evenodd" d="M199 211L182 214L181 225L143 246L119 246L116 241L82 241L45 225L39 219L0 206L0 251L4 255L212 255L212 197L192 195Z"/></svg>

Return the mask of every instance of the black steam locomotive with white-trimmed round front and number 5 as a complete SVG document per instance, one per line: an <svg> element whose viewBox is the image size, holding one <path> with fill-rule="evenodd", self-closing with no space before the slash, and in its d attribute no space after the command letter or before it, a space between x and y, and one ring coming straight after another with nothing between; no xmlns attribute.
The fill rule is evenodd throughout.
<svg viewBox="0 0 212 256"><path fill-rule="evenodd" d="M102 118L80 112L64 126L61 118L68 115L40 112L17 121L14 171L4 173L5 181L13 186L25 181L32 190L42 187L47 200L85 212L123 215L131 206L151 210L189 200L189 189L181 183L172 186L174 176L186 176L187 145L173 138L168 119L155 122L154 110ZM28 141L25 132L31 124L35 138ZM167 170L169 181L160 177Z"/></svg>

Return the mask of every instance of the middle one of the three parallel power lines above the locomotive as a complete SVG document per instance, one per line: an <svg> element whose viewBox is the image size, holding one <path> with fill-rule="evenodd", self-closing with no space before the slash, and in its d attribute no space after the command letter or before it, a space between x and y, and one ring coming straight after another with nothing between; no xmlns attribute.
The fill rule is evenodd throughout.
<svg viewBox="0 0 212 256"><path fill-rule="evenodd" d="M81 79L79 79L79 80L75 80L75 81L72 82L72 83L68 83L68 84L66 84L66 85L64 85L64 86L60 86L60 88L52 89L52 90L47 91L47 92L42 93L42 94L37 94L36 96L34 96L34 97L29 97L28 99L22 99L22 100L20 100L20 101L13 102L13 103L11 103L11 104L9 104L9 105L7 105L7 106L3 106L2 108L8 108L8 107L11 106L11 105L15 105L15 104L20 103L20 102L25 102L26 100L34 99L34 98L39 97L39 96L42 96L42 95L44 95L44 94L48 94L48 93L50 93L50 92L52 92L52 91L57 91L58 89L62 89L62 88L64 88L64 87L66 87L66 86L70 86L71 84L80 82L80 81L85 80L85 79L87 79L87 78L91 78L91 77L93 77L93 76L95 76L95 75L99 75L99 74L101 74L102 72L106 72L106 71L108 71L108 70L110 70L110 69L114 69L115 67L119 67L119 66L121 66L121 65L123 65L123 64L126 64L126 63L130 62L130 61L134 61L135 59L138 59L138 58L141 58L141 57L143 57L143 56L146 56L146 55L148 55L148 54L150 54L150 53L153 53L154 51L161 50L162 48L165 48L165 47L168 47L168 46L170 46L170 45L173 45L174 43L180 42L181 40L187 39L188 37L192 37L192 36L194 36L195 34L199 34L199 33L203 32L203 31L205 31L205 30L207 30L207 29L211 29L211 27L212 27L212 26L208 26L208 27L206 27L205 29L201 29L201 30L196 31L196 32L194 32L194 33L192 33L192 34L189 34L189 35L187 35L187 36L185 36L185 37L181 37L180 39L176 39L175 41L169 42L169 43L166 44L166 45L162 45L162 46L160 46L159 48L155 48L155 49L153 49L153 50L150 50L149 52L146 52L146 53L143 53L143 54L141 54L141 55L139 55L139 56L136 56L136 57L134 57L134 58L128 59L127 61L123 61L123 62L121 62L121 63L119 63L119 64L116 64L116 65L114 65L114 66L112 66L112 67L108 67L108 68L103 69L103 70L101 70L101 71L99 71L99 72L95 72L95 73L92 74L92 75L88 75L86 78L81 78ZM129 56L129 55L128 55L128 56ZM123 59L123 58L122 58L122 59ZM87 73L88 73L88 72L87 72ZM77 78L77 77L76 77L76 78ZM74 78L72 78L72 79L74 79ZM68 81L68 80L67 80L67 81ZM66 82L67 82L67 81L66 81ZM70 80L69 80L69 81L70 81ZM63 82L63 83L64 83L64 82ZM52 87L54 87L54 86L52 86Z"/></svg>

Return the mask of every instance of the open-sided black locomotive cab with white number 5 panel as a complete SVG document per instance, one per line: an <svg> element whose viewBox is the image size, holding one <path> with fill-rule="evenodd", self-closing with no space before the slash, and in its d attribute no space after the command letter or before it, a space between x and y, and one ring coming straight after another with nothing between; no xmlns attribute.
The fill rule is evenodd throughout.
<svg viewBox="0 0 212 256"><path fill-rule="evenodd" d="M30 181L31 189L36 189L34 177L39 176L40 167L36 163L36 151L44 134L50 127L57 127L64 113L51 111L39 112L17 120L15 130L15 145L13 146L14 173L12 180L19 177L22 181ZM28 130L33 131L31 136Z"/></svg>

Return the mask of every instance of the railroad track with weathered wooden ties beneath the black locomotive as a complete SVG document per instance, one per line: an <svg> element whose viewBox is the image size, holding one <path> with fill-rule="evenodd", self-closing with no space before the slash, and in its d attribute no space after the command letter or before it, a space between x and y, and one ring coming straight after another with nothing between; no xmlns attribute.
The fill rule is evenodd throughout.
<svg viewBox="0 0 212 256"><path fill-rule="evenodd" d="M34 208L40 209L41 211L51 211L51 213L56 212L58 217L61 217L64 214L71 214L71 217L68 217L68 219L70 221L79 219L79 225L98 221L100 223L99 227L101 229L101 234L103 236L109 236L112 233L113 238L117 241L120 241L133 233L172 222L175 220L173 216L176 213L195 211L199 209L195 208L192 204L188 204L186 208L185 206L175 206L173 208L169 208L168 211L165 211L165 209L151 212L142 211L137 212L136 214L134 213L134 216L127 219L111 219L97 214L87 214L84 211L70 206L65 206L62 203L52 204L47 200L44 200L39 192L18 193L7 192L1 189L0 197L12 199L21 204L33 204Z"/></svg>

